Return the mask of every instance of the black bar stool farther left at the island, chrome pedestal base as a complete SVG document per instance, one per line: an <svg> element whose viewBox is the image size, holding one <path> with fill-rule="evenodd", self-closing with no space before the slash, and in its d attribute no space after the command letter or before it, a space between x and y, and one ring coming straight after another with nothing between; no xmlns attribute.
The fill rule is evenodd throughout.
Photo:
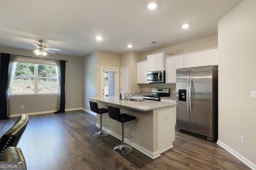
<svg viewBox="0 0 256 170"><path fill-rule="evenodd" d="M102 131L102 114L103 114L103 113L108 113L108 109L105 109L105 108L99 109L97 102L93 102L93 101L91 101L91 100L90 100L89 102L90 102L90 108L91 108L91 110L92 110L93 112L95 112L95 113L100 114L100 131L94 133L93 136L94 136L94 137L106 137L106 136L108 136L108 133L107 133L107 132L103 132L103 131Z"/></svg>

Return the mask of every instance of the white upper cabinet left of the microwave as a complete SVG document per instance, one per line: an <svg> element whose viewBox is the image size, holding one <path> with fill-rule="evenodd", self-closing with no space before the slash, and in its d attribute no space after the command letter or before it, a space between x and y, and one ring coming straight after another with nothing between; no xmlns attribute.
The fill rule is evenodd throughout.
<svg viewBox="0 0 256 170"><path fill-rule="evenodd" d="M137 62L137 84L147 84L148 61Z"/></svg>

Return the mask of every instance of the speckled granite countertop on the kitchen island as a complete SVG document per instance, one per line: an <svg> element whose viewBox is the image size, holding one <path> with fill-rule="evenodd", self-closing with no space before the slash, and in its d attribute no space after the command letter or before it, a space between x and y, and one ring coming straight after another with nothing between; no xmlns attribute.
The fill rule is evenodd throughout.
<svg viewBox="0 0 256 170"><path fill-rule="evenodd" d="M143 100L142 102L134 102L134 101L124 101L119 100L119 97L96 97L96 98L88 98L90 100L96 100L100 102L104 102L107 104L114 104L117 106L127 107L130 109L135 109L139 111L150 111L156 110L164 107L174 107L176 103L166 103L166 102L158 102L152 100Z"/></svg>

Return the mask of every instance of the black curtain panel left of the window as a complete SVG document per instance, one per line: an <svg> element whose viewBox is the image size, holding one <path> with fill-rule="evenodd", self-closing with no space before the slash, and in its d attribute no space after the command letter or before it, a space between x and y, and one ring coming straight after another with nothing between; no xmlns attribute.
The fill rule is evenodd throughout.
<svg viewBox="0 0 256 170"><path fill-rule="evenodd" d="M0 119L8 119L7 116L7 81L10 54L0 53Z"/></svg>

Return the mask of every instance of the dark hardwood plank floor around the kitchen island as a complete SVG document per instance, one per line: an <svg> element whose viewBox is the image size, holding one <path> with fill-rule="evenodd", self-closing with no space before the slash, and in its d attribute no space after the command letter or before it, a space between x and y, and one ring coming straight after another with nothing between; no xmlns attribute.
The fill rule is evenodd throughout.
<svg viewBox="0 0 256 170"><path fill-rule="evenodd" d="M0 135L17 117L0 120ZM119 155L113 147L120 140L96 138L96 117L82 110L30 115L20 139L29 170L248 170L248 166L216 143L176 132L174 147L151 159L134 149ZM166 129L168 132L168 129Z"/></svg>

